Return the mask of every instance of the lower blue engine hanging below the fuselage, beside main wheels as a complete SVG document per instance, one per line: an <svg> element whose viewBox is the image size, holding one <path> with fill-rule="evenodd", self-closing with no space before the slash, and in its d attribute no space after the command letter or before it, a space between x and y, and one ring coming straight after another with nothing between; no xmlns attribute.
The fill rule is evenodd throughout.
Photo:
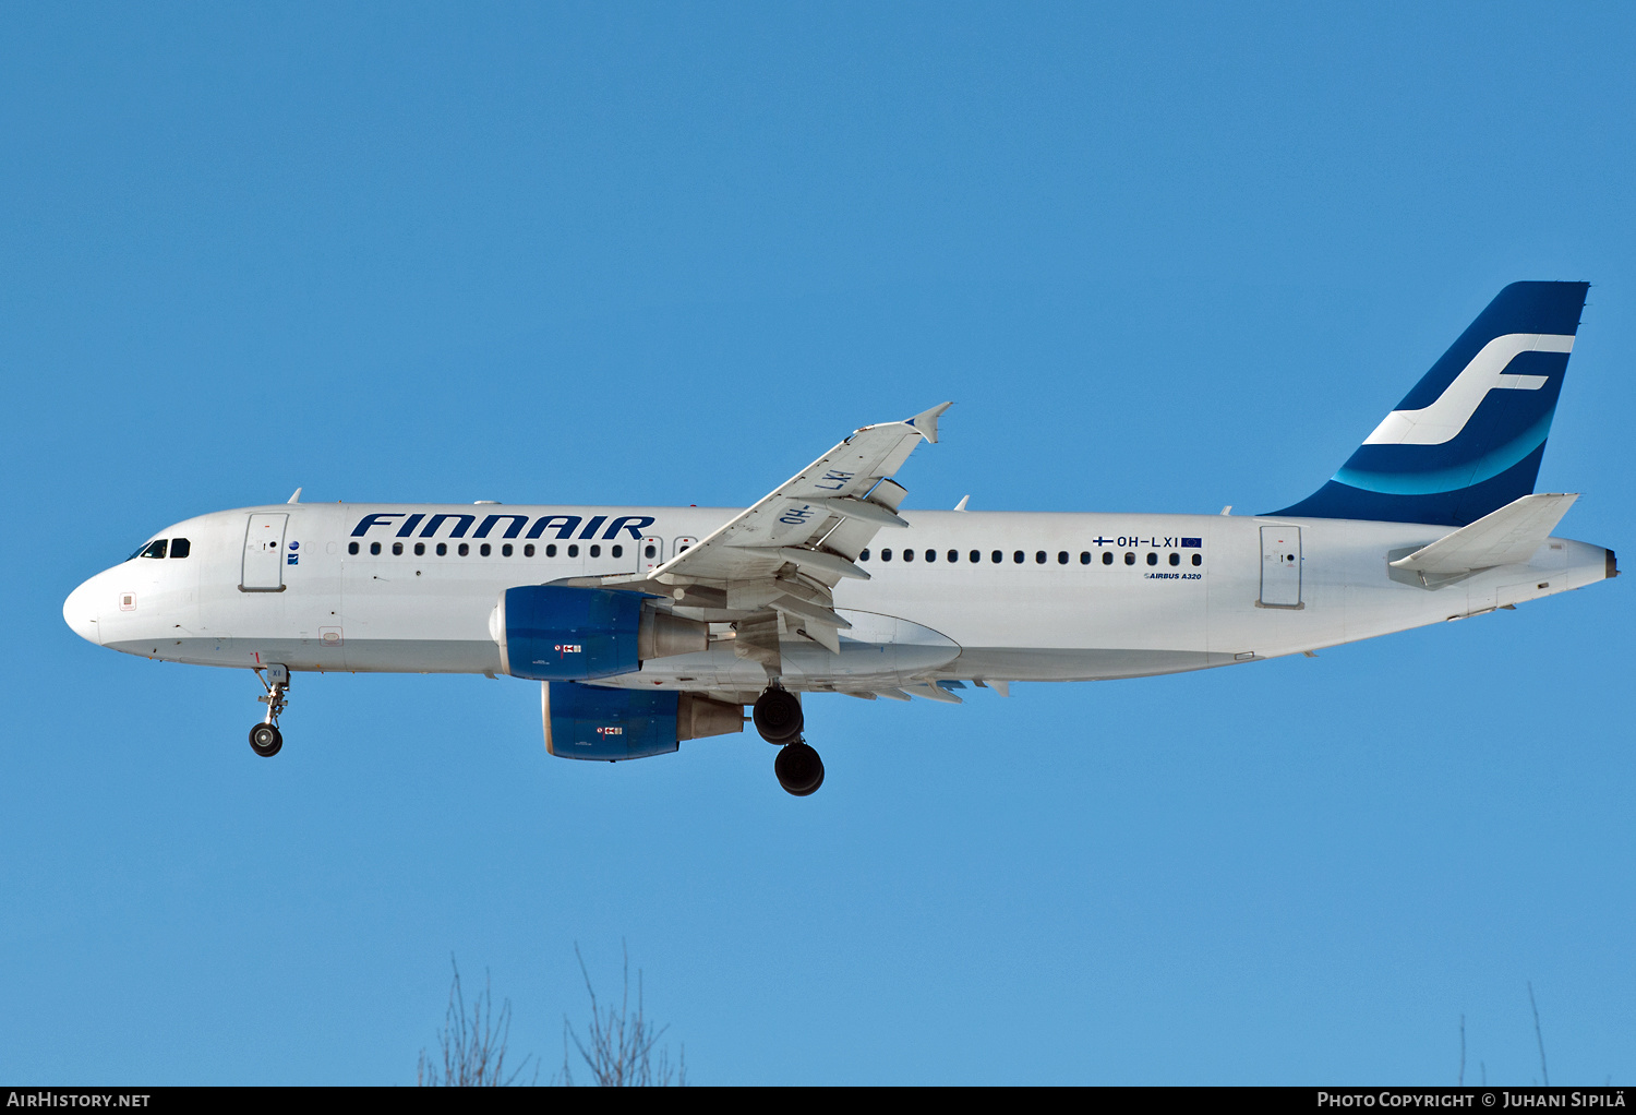
<svg viewBox="0 0 1636 1115"><path fill-rule="evenodd" d="M610 763L744 730L744 709L736 704L674 689L599 689L573 681L540 683L540 719L551 755Z"/></svg>

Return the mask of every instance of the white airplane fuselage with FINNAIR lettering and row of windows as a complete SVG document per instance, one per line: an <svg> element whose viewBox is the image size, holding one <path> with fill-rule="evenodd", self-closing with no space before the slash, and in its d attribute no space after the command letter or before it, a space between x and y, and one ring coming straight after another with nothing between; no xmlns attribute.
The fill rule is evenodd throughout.
<svg viewBox="0 0 1636 1115"><path fill-rule="evenodd" d="M504 663L491 617L504 589L638 573L736 514L501 504L244 508L155 535L187 539L187 557L133 557L80 586L64 612L92 642L164 661L497 675ZM910 509L901 516L908 529L880 530L859 558L870 580L834 588L836 611L852 622L843 632L843 653L787 632L787 688L870 691L960 678L1178 673L1459 619L1613 573L1608 550L1553 537L1526 565L1427 586L1387 562L1448 527L1402 522ZM654 658L597 684L759 691L766 676L733 653L725 614L689 614L718 621L708 650Z"/></svg>

